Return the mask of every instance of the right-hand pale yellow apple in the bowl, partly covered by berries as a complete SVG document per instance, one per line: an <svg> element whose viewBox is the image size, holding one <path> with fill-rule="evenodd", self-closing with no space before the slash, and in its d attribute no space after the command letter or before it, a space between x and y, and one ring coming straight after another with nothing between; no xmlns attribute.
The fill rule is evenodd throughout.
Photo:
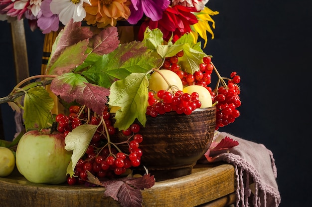
<svg viewBox="0 0 312 207"><path fill-rule="evenodd" d="M197 92L199 97L198 99L201 102L200 108L207 108L212 106L212 98L211 94L207 88L201 85L189 85L183 88L184 93L191 94L193 92Z"/></svg>

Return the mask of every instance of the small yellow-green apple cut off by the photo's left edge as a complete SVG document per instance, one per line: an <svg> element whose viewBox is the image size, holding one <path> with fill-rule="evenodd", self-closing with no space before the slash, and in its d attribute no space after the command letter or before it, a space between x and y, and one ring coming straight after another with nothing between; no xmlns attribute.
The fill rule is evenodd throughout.
<svg viewBox="0 0 312 207"><path fill-rule="evenodd" d="M0 147L0 177L11 174L14 167L15 157L13 152L6 147Z"/></svg>

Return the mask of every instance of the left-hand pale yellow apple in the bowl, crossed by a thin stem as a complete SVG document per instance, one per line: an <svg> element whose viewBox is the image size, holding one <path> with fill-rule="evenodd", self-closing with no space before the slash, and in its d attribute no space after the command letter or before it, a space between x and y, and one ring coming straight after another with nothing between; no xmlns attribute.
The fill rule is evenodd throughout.
<svg viewBox="0 0 312 207"><path fill-rule="evenodd" d="M160 73L160 74L159 74ZM183 89L183 83L180 77L171 70L158 70L151 75L149 80L149 89L155 92L159 90L167 90L169 85L174 86L173 91L178 91ZM169 89L168 91L172 91Z"/></svg>

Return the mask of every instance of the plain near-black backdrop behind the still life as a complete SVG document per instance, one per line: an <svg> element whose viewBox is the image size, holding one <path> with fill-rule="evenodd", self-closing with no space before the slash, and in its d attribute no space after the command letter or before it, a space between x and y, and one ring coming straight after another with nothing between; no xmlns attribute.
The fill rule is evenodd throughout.
<svg viewBox="0 0 312 207"><path fill-rule="evenodd" d="M275 157L280 207L311 206L311 0L210 0L220 14L204 49L223 76L241 76L241 116L220 131L264 144ZM14 82L9 24L0 22L0 97ZM39 74L44 36L26 25L30 74ZM13 112L1 105L5 139Z"/></svg>

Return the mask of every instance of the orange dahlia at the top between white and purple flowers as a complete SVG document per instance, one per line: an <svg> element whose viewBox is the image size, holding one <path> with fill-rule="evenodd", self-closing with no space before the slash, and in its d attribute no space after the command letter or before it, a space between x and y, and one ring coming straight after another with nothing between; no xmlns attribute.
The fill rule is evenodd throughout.
<svg viewBox="0 0 312 207"><path fill-rule="evenodd" d="M90 0L91 5L85 3L85 20L87 24L99 28L115 26L117 20L128 19L130 15L130 0Z"/></svg>

